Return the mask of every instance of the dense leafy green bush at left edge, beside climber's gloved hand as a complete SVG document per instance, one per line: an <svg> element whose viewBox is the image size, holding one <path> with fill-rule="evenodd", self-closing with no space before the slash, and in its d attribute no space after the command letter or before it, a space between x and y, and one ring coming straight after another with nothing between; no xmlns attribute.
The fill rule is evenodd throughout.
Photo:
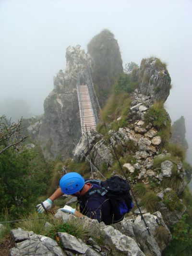
<svg viewBox="0 0 192 256"><path fill-rule="evenodd" d="M14 217L29 210L49 185L48 172L41 170L36 154L33 150L17 153L13 148L0 154L0 206L9 208Z"/></svg>

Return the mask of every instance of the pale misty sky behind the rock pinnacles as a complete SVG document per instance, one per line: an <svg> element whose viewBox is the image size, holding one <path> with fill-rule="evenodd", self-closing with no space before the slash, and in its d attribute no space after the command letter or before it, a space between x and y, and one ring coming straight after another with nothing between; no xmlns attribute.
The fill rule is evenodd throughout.
<svg viewBox="0 0 192 256"><path fill-rule="evenodd" d="M0 0L0 102L25 99L42 114L66 48L86 51L104 28L118 40L123 65L151 56L168 63L166 108L172 121L185 117L192 146L192 0Z"/></svg>

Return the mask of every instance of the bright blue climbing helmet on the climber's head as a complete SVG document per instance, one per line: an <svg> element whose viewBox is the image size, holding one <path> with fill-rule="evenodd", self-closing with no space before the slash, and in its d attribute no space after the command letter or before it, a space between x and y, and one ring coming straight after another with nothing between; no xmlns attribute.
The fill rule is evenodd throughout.
<svg viewBox="0 0 192 256"><path fill-rule="evenodd" d="M60 179L62 193L72 195L84 187L84 178L77 172L69 172Z"/></svg>

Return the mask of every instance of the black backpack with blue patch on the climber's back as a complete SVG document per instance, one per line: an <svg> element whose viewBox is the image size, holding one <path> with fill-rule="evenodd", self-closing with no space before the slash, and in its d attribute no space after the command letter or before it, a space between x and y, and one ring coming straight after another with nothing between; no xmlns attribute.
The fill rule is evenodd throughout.
<svg viewBox="0 0 192 256"><path fill-rule="evenodd" d="M99 184L100 188L92 188L86 196L89 197L95 193L106 195L110 200L113 223L119 222L124 215L133 207L132 196L130 195L130 185L119 176L113 176L106 181L86 180L86 183Z"/></svg>

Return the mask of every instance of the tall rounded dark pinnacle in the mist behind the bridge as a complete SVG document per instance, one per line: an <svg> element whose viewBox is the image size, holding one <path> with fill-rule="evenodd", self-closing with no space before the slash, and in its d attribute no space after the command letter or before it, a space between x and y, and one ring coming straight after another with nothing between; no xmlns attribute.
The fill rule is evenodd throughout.
<svg viewBox="0 0 192 256"><path fill-rule="evenodd" d="M112 85L119 73L123 72L118 41L105 29L87 45L88 53L94 59L93 82L100 105L103 107Z"/></svg>

